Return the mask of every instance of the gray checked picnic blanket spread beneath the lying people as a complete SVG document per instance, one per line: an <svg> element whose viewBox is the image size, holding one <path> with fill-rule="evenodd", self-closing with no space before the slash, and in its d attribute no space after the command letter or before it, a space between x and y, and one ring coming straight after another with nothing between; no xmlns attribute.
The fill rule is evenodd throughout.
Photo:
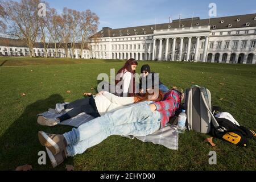
<svg viewBox="0 0 256 182"><path fill-rule="evenodd" d="M60 114L57 114L55 109L49 109L44 113L38 114L38 116L43 115L44 117L47 117L47 118L56 118L62 114L67 113L67 111L68 110L64 110ZM60 122L58 125L68 125L73 127L79 127L82 124L92 119L94 119L94 117L92 117L91 115L86 113L80 113L76 117ZM142 142L152 142L154 144L163 145L164 147L170 148L171 150L178 150L179 133L177 132L177 128L175 125L167 125L166 127L156 131L153 134L147 135L145 137L136 137L133 135L122 136L122 137L127 137L131 139L137 138Z"/></svg>

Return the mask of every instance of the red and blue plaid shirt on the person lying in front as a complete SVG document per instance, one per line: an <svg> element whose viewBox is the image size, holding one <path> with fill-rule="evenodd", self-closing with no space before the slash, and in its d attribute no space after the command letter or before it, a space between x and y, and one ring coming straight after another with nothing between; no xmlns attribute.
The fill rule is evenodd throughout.
<svg viewBox="0 0 256 182"><path fill-rule="evenodd" d="M173 117L176 109L180 106L181 96L176 90L170 90L164 94L163 101L154 102L156 110L161 115L161 128L166 126L170 117Z"/></svg>

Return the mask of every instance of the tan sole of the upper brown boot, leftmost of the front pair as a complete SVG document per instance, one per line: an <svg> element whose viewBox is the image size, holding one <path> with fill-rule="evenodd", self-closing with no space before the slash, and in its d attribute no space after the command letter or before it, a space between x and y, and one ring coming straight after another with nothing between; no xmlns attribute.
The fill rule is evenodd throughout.
<svg viewBox="0 0 256 182"><path fill-rule="evenodd" d="M47 147L53 155L56 155L60 152L60 148L57 145L57 143L55 143L51 138L49 138L48 135L44 133L44 131L38 132L38 139L40 144L42 144L42 146Z"/></svg>

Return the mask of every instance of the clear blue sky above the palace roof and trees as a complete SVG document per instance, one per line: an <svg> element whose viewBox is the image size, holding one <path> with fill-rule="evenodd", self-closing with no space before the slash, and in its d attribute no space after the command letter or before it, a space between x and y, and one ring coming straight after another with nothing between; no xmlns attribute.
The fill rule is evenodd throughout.
<svg viewBox="0 0 256 182"><path fill-rule="evenodd" d="M255 0L46 0L51 7L90 9L100 17L102 27L121 28L168 23L172 19L200 16L209 18L209 3L216 3L217 17L256 13Z"/></svg>

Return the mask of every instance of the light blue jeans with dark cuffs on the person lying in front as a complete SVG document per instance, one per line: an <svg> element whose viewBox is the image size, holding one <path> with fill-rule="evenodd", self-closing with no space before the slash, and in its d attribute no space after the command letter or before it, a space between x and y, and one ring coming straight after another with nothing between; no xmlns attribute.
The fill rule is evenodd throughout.
<svg viewBox="0 0 256 182"><path fill-rule="evenodd" d="M160 113L152 112L152 101L140 102L106 113L64 133L68 156L82 154L87 148L101 143L110 135L146 136L160 129Z"/></svg>

